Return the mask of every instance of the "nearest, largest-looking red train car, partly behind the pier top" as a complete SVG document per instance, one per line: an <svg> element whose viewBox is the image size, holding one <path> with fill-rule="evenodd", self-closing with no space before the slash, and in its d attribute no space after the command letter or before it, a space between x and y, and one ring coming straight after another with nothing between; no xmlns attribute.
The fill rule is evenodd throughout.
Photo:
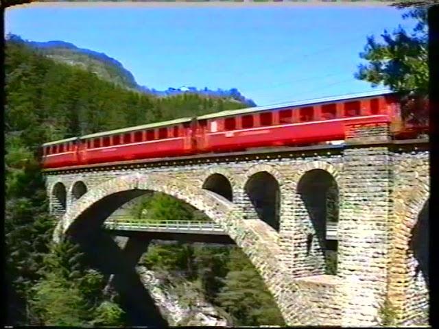
<svg viewBox="0 0 439 329"><path fill-rule="evenodd" d="M384 123L399 116L394 94L363 93L204 115L197 118L195 138L200 151L320 143L344 139L346 123Z"/></svg>

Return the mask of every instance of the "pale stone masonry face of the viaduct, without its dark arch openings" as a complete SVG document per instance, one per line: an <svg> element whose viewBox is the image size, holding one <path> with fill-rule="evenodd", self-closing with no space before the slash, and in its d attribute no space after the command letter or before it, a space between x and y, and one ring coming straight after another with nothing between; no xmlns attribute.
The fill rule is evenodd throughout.
<svg viewBox="0 0 439 329"><path fill-rule="evenodd" d="M353 143L361 141L361 136L375 135L381 142L388 139L385 125L349 127L348 132ZM410 230L428 198L427 168L428 152L403 154L385 145L347 145L343 151L326 153L47 175L47 191L52 195L54 184L64 184L67 213L63 221L74 221L80 214L78 209L97 202L99 195L104 197L121 186L134 184L131 178L119 184L118 178L139 175L139 182L145 183L134 185L146 189L150 186L146 182L155 186L169 179L167 187L158 191L169 192L200 210L207 209L213 220L224 221L226 232L261 273L287 324L376 326L385 298L398 308L401 321L410 324L421 317L428 303L425 284L419 277L414 280L416 260L407 252ZM324 275L317 239L307 249L309 235L316 236L316 232L297 188L303 175L313 169L327 171L339 188L337 276ZM270 173L280 188L279 232L258 219L246 195L246 182L262 171ZM233 217L227 217L232 210L211 212L209 205L203 205L213 202L201 189L213 173L224 175L233 188L233 204L227 203L234 207ZM86 184L87 193L73 204L71 188L77 181ZM56 210L53 202L51 207Z"/></svg>

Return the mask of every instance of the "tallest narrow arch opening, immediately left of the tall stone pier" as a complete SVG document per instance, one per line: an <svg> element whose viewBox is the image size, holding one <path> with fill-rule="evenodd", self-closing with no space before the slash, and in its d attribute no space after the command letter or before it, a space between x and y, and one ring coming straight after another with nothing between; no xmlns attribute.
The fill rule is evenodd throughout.
<svg viewBox="0 0 439 329"><path fill-rule="evenodd" d="M300 258L312 274L335 274L338 245L327 239L327 226L338 222L340 187L329 171L305 168L309 170L296 183L294 197L294 220L304 232Z"/></svg>

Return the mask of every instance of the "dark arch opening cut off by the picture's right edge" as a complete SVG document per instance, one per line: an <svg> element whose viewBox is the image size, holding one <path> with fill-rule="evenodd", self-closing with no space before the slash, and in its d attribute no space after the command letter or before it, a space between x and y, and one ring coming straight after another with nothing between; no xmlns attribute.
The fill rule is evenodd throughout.
<svg viewBox="0 0 439 329"><path fill-rule="evenodd" d="M415 276L423 276L429 289L429 200L425 202L418 215L418 220L412 228L410 250L417 261Z"/></svg>

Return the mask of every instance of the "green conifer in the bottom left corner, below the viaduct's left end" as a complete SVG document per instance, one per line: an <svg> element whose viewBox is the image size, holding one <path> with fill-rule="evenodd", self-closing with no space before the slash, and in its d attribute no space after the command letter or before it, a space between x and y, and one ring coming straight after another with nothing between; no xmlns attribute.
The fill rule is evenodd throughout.
<svg viewBox="0 0 439 329"><path fill-rule="evenodd" d="M104 298L104 276L82 256L69 241L51 245L32 289L32 310L45 326L122 326L123 311Z"/></svg>

